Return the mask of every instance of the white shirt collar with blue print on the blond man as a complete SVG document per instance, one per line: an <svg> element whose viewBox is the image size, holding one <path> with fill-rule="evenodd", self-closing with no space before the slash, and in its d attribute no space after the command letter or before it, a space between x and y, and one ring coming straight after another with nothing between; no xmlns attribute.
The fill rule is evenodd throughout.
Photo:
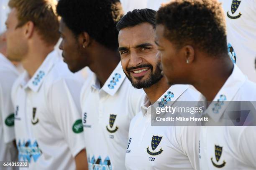
<svg viewBox="0 0 256 170"><path fill-rule="evenodd" d="M49 55L47 55L42 65L38 68L38 70L35 72L35 74L29 81L26 80L28 73L24 72L22 77L23 80L21 80L21 83L22 83L21 85L24 87L24 89L29 87L34 92L38 92L46 75L49 73L49 71L54 66L54 63L57 60L59 60L59 57L56 51L54 50L51 53L49 53ZM23 85L24 82L28 82L28 83L26 83L26 85Z"/></svg>

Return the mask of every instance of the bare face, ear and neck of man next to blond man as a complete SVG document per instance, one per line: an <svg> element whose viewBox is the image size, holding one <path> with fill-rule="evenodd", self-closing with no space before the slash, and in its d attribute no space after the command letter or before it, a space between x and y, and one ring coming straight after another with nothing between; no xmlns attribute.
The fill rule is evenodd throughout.
<svg viewBox="0 0 256 170"><path fill-rule="evenodd" d="M95 72L102 87L120 62L118 52L96 42L87 32L75 37L63 20L60 22L59 32L62 37L59 48L63 50L62 56L69 70L77 72L88 66Z"/></svg>

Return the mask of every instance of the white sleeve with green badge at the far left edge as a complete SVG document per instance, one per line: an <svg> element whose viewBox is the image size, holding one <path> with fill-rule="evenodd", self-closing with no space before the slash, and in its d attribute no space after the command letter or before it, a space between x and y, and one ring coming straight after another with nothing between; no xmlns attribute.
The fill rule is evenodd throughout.
<svg viewBox="0 0 256 170"><path fill-rule="evenodd" d="M3 124L5 143L15 140L14 107L11 100L11 89L18 75L11 71L1 72L0 79L0 116Z"/></svg>

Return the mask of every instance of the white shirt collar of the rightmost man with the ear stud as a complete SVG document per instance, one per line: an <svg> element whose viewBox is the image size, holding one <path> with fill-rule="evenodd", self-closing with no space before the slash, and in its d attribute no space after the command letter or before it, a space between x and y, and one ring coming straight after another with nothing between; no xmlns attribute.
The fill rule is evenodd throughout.
<svg viewBox="0 0 256 170"><path fill-rule="evenodd" d="M218 122L225 109L228 107L229 102L233 100L246 80L247 77L236 65L234 65L232 74L228 77L228 80L224 83L223 87L221 87L213 102L207 107L205 114L208 114L215 122ZM202 95L201 99L206 100ZM206 103L207 102L205 102L205 104Z"/></svg>

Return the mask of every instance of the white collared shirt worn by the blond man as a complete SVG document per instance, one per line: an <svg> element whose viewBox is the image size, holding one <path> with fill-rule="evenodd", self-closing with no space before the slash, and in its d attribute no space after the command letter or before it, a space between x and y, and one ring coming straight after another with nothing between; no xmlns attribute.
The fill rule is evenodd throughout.
<svg viewBox="0 0 256 170"><path fill-rule="evenodd" d="M24 72L15 82L15 134L19 160L30 169L74 170L84 149L78 80L51 52L31 79Z"/></svg>

